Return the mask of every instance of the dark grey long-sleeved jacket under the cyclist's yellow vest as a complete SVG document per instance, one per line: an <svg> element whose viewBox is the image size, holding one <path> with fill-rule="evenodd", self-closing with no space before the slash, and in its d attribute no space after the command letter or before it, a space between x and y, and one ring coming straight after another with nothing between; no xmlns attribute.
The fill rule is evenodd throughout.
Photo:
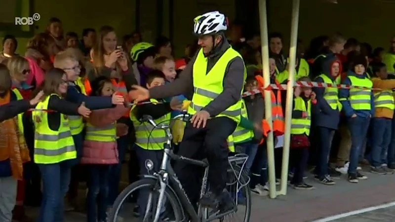
<svg viewBox="0 0 395 222"><path fill-rule="evenodd" d="M216 51L208 56L206 74L213 68L219 58L225 51L231 47L226 39L221 45L216 48ZM196 55L191 59L186 68L181 72L180 77L172 83L158 86L150 89L150 97L155 99L167 98L177 96L180 94L190 94L193 92L193 67L196 60ZM241 57L232 59L226 68L223 88L220 95L211 101L202 110L210 113L210 116L216 116L225 111L230 106L240 100L240 92L244 85L244 62Z"/></svg>

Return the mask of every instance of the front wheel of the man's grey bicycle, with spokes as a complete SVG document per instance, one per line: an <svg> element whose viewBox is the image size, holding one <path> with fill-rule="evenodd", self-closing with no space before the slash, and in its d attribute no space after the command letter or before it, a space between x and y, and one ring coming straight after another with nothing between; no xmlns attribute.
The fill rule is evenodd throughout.
<svg viewBox="0 0 395 222"><path fill-rule="evenodd" d="M152 222L157 211L159 192L159 179L155 178L144 178L128 185L115 200L108 221ZM159 221L181 222L183 219L181 206L169 187L166 187L163 199L162 206L159 206L161 208Z"/></svg>

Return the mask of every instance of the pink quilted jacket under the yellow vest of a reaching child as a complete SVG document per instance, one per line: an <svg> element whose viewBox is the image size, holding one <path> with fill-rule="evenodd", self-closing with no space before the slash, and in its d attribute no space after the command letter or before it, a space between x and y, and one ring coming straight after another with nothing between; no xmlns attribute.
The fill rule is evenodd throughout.
<svg viewBox="0 0 395 222"><path fill-rule="evenodd" d="M88 122L102 127L117 121L128 108L118 105L112 109L95 110L90 113ZM117 127L117 136L119 135ZM84 140L82 149L82 164L115 164L118 163L117 141L99 142Z"/></svg>

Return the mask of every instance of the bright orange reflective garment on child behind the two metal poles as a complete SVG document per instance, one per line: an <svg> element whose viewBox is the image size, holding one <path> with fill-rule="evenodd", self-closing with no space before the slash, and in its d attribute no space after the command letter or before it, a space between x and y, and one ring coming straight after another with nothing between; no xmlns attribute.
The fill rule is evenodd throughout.
<svg viewBox="0 0 395 222"><path fill-rule="evenodd" d="M258 81L258 87L261 89L264 85L264 80L261 75L255 75L256 80ZM276 80L276 84L279 82ZM277 90L277 97L273 90L271 92L272 98L272 117L273 117L273 133L276 136L280 136L284 134L284 114L282 113L281 107L281 92ZM264 96L263 90L261 90L262 96Z"/></svg>

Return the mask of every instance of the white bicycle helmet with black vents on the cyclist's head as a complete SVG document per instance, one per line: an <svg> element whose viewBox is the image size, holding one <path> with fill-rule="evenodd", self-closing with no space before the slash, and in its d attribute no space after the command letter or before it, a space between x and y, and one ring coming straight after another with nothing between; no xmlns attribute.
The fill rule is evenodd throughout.
<svg viewBox="0 0 395 222"><path fill-rule="evenodd" d="M211 11L194 19L196 36L215 34L228 29L228 18L219 11Z"/></svg>

